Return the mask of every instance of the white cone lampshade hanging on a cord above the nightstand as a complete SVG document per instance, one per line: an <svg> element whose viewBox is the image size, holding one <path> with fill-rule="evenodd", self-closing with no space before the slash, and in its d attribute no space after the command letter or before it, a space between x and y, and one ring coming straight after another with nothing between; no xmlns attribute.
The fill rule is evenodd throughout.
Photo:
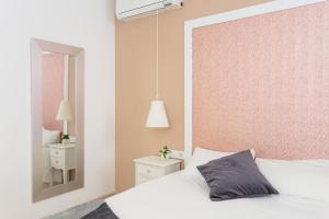
<svg viewBox="0 0 329 219"><path fill-rule="evenodd" d="M146 127L148 128L167 128L169 127L163 101L156 100L151 102Z"/></svg>

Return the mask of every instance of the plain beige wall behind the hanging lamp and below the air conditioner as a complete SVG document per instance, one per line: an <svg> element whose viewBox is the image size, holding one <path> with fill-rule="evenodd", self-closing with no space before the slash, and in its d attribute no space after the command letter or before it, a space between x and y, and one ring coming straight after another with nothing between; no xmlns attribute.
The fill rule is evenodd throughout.
<svg viewBox="0 0 329 219"><path fill-rule="evenodd" d="M147 129L155 97L155 16L116 22L116 192L134 185L133 159L157 153L160 146L183 150L184 21L266 0L185 0L184 7L159 16L159 84L169 129Z"/></svg>

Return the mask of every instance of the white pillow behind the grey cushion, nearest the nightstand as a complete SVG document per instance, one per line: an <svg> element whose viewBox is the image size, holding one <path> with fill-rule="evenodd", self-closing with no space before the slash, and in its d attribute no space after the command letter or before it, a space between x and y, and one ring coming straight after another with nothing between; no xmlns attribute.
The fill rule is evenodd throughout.
<svg viewBox="0 0 329 219"><path fill-rule="evenodd" d="M254 150L250 149L252 157L256 157ZM183 175L193 181L197 186L200 186L203 191L208 192L208 185L201 173L197 171L196 166L205 164L212 160L219 159L226 155L230 155L236 152L222 152L207 150L203 148L195 148L192 158L190 159L185 170L183 171Z"/></svg>

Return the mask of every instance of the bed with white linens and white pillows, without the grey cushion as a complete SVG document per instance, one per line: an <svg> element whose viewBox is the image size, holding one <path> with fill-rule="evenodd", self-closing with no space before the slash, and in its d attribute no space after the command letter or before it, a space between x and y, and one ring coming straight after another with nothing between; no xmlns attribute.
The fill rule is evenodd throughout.
<svg viewBox="0 0 329 219"><path fill-rule="evenodd" d="M121 219L328 218L329 160L271 160L249 151L258 170L280 194L211 200L209 186L197 166L237 153L196 148L183 171L138 185L105 203Z"/></svg>

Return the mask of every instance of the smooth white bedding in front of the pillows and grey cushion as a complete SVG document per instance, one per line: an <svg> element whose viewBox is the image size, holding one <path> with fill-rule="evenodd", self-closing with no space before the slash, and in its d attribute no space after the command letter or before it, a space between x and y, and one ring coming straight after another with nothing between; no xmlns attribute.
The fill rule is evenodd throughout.
<svg viewBox="0 0 329 219"><path fill-rule="evenodd" d="M106 199L121 219L328 219L329 201L291 195L211 201L181 172Z"/></svg>

